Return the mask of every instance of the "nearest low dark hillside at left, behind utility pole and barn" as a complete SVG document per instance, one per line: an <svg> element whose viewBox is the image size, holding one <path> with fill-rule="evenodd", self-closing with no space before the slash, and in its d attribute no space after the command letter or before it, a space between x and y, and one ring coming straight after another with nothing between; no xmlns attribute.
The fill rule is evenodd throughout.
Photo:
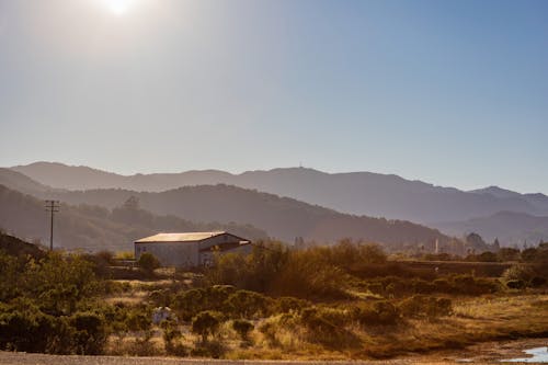
<svg viewBox="0 0 548 365"><path fill-rule="evenodd" d="M27 241L48 244L49 219L44 202L0 185L0 228ZM54 246L98 251L133 250L135 239L159 231L228 230L250 239L266 232L252 226L198 224L145 209L118 207L112 212L92 205L62 204L55 217Z"/></svg>

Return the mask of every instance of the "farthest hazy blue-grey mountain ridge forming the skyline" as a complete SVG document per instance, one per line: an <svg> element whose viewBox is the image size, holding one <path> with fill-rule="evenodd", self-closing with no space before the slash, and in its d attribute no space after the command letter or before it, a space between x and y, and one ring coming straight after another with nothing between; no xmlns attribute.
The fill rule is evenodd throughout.
<svg viewBox="0 0 548 365"><path fill-rule="evenodd" d="M404 219L430 225L466 220L498 212L548 216L548 196L520 194L498 187L464 192L391 174L324 173L290 168L248 171L187 171L130 176L60 163L36 162L12 168L38 182L69 190L124 189L161 192L181 186L228 184L288 196L342 213Z"/></svg>

